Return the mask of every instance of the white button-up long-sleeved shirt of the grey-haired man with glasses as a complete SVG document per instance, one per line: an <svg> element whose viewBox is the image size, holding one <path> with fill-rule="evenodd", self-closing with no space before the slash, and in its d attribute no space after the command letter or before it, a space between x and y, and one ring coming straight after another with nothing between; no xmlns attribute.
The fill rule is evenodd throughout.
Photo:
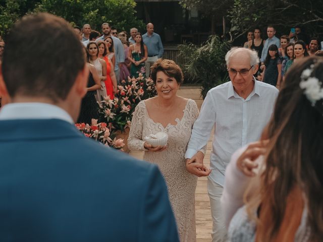
<svg viewBox="0 0 323 242"><path fill-rule="evenodd" d="M260 138L273 112L278 89L254 82L254 88L246 99L234 91L231 81L209 90L193 126L185 158L192 158L207 144L214 127L209 178L221 186L224 185L231 155Z"/></svg>

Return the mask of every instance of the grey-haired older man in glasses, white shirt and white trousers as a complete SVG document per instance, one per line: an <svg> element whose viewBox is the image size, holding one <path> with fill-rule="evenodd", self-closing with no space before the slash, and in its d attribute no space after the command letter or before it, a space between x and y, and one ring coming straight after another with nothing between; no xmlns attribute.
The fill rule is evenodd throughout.
<svg viewBox="0 0 323 242"><path fill-rule="evenodd" d="M228 51L226 62L231 81L208 91L185 154L188 164L203 163L204 154L199 150L207 144L214 127L207 183L212 242L226 241L220 199L230 157L238 148L260 138L278 95L275 87L254 79L259 63L254 50L234 47ZM200 169L195 172L199 176L207 173Z"/></svg>

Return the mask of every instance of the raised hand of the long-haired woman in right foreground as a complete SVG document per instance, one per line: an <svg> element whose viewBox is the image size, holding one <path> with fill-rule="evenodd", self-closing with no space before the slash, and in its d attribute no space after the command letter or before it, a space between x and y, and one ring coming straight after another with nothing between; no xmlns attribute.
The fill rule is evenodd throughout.
<svg viewBox="0 0 323 242"><path fill-rule="evenodd" d="M266 153L266 145L268 140L257 141L251 143L248 148L240 155L237 160L237 167L244 173L246 176L255 176L254 168L258 167L258 164L255 163L255 160L260 156Z"/></svg>

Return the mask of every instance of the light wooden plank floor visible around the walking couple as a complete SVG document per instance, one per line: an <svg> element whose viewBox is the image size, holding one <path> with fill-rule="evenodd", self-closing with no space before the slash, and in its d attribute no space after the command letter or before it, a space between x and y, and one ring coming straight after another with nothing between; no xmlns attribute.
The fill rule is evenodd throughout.
<svg viewBox="0 0 323 242"><path fill-rule="evenodd" d="M201 108L203 99L200 96L200 89L194 87L182 87L177 93L179 96L191 98L196 101L198 108ZM207 150L204 158L204 164L209 167L210 151L212 148L212 135L207 144ZM131 156L142 159L143 152L129 153ZM196 212L196 238L197 242L210 242L212 230L212 218L210 211L210 202L206 188L207 178L198 177L195 191L195 212Z"/></svg>

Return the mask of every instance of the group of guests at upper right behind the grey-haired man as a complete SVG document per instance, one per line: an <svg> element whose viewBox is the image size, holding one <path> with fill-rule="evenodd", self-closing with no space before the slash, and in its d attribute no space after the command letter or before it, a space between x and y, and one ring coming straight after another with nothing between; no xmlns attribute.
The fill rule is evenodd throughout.
<svg viewBox="0 0 323 242"><path fill-rule="evenodd" d="M268 38L265 40L261 38L260 28L249 31L243 45L257 51L260 63L255 77L265 83L280 88L285 73L295 61L304 56L323 55L319 39L308 38L299 26L291 28L288 35L280 38L276 37L274 26L267 26L266 31Z"/></svg>

